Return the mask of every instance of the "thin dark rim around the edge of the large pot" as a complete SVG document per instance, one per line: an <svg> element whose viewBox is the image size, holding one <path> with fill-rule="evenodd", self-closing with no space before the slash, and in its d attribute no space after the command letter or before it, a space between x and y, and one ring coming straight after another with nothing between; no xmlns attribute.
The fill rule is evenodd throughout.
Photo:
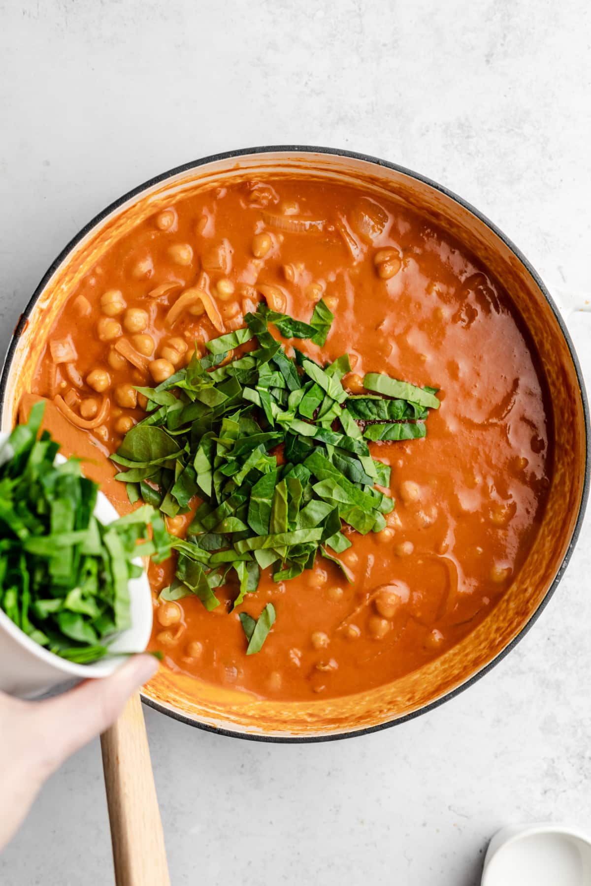
<svg viewBox="0 0 591 886"><path fill-rule="evenodd" d="M585 517L585 509L587 507L587 499L589 495L589 487L591 486L591 420L589 416L589 403L587 400L587 392L585 388L585 382L583 379L583 373L580 368L579 358L577 356L575 347L572 342L572 338L570 333L564 323L564 317L559 311L558 307L556 307L556 302L552 299L546 285L541 280L540 275L533 268L533 265L529 260L525 258L524 253L521 252L520 249L512 242L512 240L507 237L507 235L498 228L493 221L490 221L489 218L483 213L481 213L475 206L472 206L467 200L464 200L462 197L459 197L454 191L449 190L444 185L435 182L433 179L429 178L426 175L422 175L421 173L417 173L412 169L408 169L407 167L400 166L397 163L393 163L390 160L380 159L378 157L374 157L371 154L364 154L354 151L349 151L344 148L329 148L322 147L318 145L306 145L306 144L278 144L278 145L262 145L253 148L238 148L234 151L224 151L218 152L215 154L209 154L206 157L202 157L200 159L190 160L189 162L183 163L180 166L173 167L168 169L166 172L159 173L159 175L154 175L152 178L148 179L144 183L136 185L135 188L128 190L127 193L123 194L121 197L113 200L113 203L106 206L105 209L101 210L97 215L95 215L90 221L88 221L82 229L67 243L67 245L62 249L62 251L58 254L57 258L51 262L50 267L47 269L45 274L43 275L41 281L36 286L33 295L27 302L27 306L24 308L22 314L19 316L19 320L12 332L12 338L8 349L6 351L4 357L4 363L2 367L2 374L0 375L0 408L4 406L4 399L6 395L6 391L8 388L8 379L10 376L10 370L12 366L12 359L14 356L14 352L16 350L16 346L19 342L19 337L21 333L24 331L28 317L33 311L37 300L43 293L45 286L51 279L51 276L55 273L58 267L66 260L69 253L74 250L74 247L80 243L83 237L89 233L90 230L97 227L101 221L112 214L115 210L117 210L120 206L127 203L128 200L132 198L138 197L140 194L144 192L144 190L148 190L152 188L154 185L165 182L168 178L172 178L175 175L180 175L185 172L191 171L191 169L196 169L198 167L206 166L208 163L221 162L225 160L232 160L239 157L245 157L249 155L256 154L272 154L272 153L284 153L284 154L295 154L295 153L304 153L304 154L327 154L336 157L346 157L355 160L362 160L363 162L372 164L377 167L386 167L388 169L393 169L395 172L400 173L401 175L407 175L410 178L416 179L417 182L423 183L431 187L433 190L439 191L439 193L443 194L447 198L450 198L455 201L459 206L462 206L463 209L466 209L468 212L476 216L476 218L483 222L488 229L493 231L493 233L502 240L502 243L506 245L509 250L515 255L517 260L520 262L525 271L533 278L534 283L540 289L542 295L548 302L548 306L552 313L556 318L556 322L560 328L560 331L563 334L564 340L566 342L566 346L569 349L569 354L571 355L572 364L575 370L575 374L577 376L577 382L579 385L579 394L581 399L581 405L583 408L583 418L585 425L585 468L584 468L584 477L583 477L583 489L581 498L579 501L579 511L577 514L577 518L575 520L575 525L572 530L571 540L569 542L569 546L564 554L563 560L556 572L555 578L552 580L551 584L546 591L543 599L540 601L540 604L533 611L532 615L527 619L525 625L521 628L519 633L510 641L507 646L501 650L488 664L485 664L482 668L480 668L476 673L473 673L467 680L464 680L459 686L456 686L454 689L451 689L449 692L445 693L439 698L434 699L434 701L429 704L425 704L424 707L417 709L416 711L411 711L408 714L404 714L401 717L397 717L391 720L387 720L385 723L379 723L377 726L371 727L363 727L361 729L353 729L347 730L344 732L330 733L330 734L318 734L318 735L277 735L277 734L256 734L256 733L248 733L241 732L239 730L228 729L225 727L214 727L208 723L203 723L197 719L192 719L191 717L183 714L182 711L177 711L174 708L169 708L167 705L157 702L156 700L145 696L142 693L142 700L144 704L153 708L155 711L159 711L159 713L166 714L168 717L172 717L174 719L179 720L182 723L187 724L188 726L196 727L198 729L203 729L206 732L211 732L214 734L226 735L229 738L241 738L248 741L253 742L273 742L276 744L304 744L304 743L315 743L315 742L335 742L339 739L344 738L353 738L357 735L367 735L375 732L380 732L383 729L387 729L389 727L398 726L401 723L406 723L408 720L415 719L416 717L421 716L422 714L428 713L429 711L435 710L439 705L450 701L455 696L458 696L465 689L472 686L477 680L480 680L485 676L486 673L491 671L496 664L499 664L504 657L509 655L509 652L517 646L517 643L521 641L525 634L530 630L530 628L535 624L537 619L540 617L541 612L548 605L549 600L554 595L556 591L556 587L560 580L564 575L564 570L568 565L572 551L576 545L577 540L579 539L579 533L581 529L581 525L583 523L583 518Z"/></svg>

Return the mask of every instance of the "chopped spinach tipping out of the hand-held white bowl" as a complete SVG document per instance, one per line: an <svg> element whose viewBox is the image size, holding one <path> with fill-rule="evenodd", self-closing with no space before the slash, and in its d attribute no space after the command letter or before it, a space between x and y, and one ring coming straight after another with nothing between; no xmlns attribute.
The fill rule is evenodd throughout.
<svg viewBox="0 0 591 886"><path fill-rule="evenodd" d="M131 625L128 581L142 571L132 560L161 561L172 539L149 504L106 526L97 520L97 484L75 459L54 464L59 446L47 431L37 439L43 408L36 403L0 449L0 607L45 649L90 664ZM150 463L165 449L150 436L124 451ZM144 494L144 483L129 486L130 498Z"/></svg>

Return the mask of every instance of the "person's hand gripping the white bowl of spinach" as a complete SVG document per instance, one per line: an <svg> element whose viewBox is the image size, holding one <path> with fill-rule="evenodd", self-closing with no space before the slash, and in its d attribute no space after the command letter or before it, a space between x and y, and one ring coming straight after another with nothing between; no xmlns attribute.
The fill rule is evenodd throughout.
<svg viewBox="0 0 591 886"><path fill-rule="evenodd" d="M157 668L152 656L135 656L110 677L86 680L43 702L0 693L0 850L16 833L43 781L110 727L128 697Z"/></svg>

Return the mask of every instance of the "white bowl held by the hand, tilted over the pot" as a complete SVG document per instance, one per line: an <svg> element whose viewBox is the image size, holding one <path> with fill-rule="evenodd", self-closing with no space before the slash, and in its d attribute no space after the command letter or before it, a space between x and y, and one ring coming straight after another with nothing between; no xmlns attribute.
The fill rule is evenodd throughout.
<svg viewBox="0 0 591 886"><path fill-rule="evenodd" d="M7 436L0 434L0 447ZM65 461L61 455L57 460ZM103 524L112 523L119 516L102 493L97 496L94 513ZM139 557L134 563L143 565ZM0 690L21 698L39 696L61 683L108 676L127 661L118 652L142 652L152 632L152 595L145 571L138 579L130 579L128 587L131 627L113 642L110 654L94 664L74 664L48 652L0 609Z"/></svg>

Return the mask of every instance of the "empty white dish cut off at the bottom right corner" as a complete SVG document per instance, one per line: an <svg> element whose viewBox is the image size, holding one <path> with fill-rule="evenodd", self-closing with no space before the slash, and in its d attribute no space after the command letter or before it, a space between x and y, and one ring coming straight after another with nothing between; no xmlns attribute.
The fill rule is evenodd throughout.
<svg viewBox="0 0 591 886"><path fill-rule="evenodd" d="M503 828L486 851L482 886L588 886L591 840L578 828L531 824Z"/></svg>

